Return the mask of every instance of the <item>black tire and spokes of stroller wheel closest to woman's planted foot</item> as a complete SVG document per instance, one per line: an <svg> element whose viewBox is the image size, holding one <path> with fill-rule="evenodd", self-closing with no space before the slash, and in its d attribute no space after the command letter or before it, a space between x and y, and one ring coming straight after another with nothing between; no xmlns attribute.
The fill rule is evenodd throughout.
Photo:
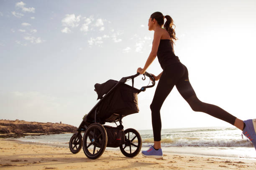
<svg viewBox="0 0 256 170"><path fill-rule="evenodd" d="M126 129L124 131L124 133L125 133L125 144L124 145L120 145L119 148L120 148L121 152L123 153L123 155L125 155L126 157L135 157L141 151L141 145L142 145L141 135L140 135L140 133L138 133L137 130L132 129L132 128ZM129 133L133 133L135 135L133 137L133 139L129 139L130 138ZM136 138L138 140L138 145L135 145L133 143L133 140L136 139ZM133 153L132 153L132 150L131 150L131 145L137 147L137 149ZM130 152L129 153L125 151L125 148L127 146L130 148Z"/></svg>

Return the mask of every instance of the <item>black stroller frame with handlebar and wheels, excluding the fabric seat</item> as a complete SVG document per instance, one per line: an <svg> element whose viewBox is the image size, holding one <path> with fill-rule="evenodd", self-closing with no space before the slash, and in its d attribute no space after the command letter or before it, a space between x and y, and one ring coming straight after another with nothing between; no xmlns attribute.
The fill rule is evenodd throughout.
<svg viewBox="0 0 256 170"><path fill-rule="evenodd" d="M87 156L87 158L90 158L90 159L97 159L99 158L103 152L105 151L105 148L108 144L108 136L107 136L107 133L106 133L106 126L103 126L105 124L105 120L101 120L100 117L98 116L99 115L99 111L98 111L98 106L100 105L100 103L102 103L102 101L104 102L104 99L106 97L108 97L108 95L113 91L115 90L115 88L120 84L120 83L125 83L128 79L129 80L132 80L132 86L130 87L133 87L134 85L134 78L137 77L138 75L140 75L140 73L137 73L135 75L131 75L131 76L128 76L128 77L122 77L101 99L99 102L97 102L97 104L90 110L90 112L84 117L84 119L82 120L81 124L79 125L79 127L77 128L77 133L74 133L72 135L72 137L70 138L70 141L69 141L69 149L72 153L76 154L78 153L81 148L83 148L84 150L84 154ZM133 87L135 90L139 92L141 91L145 91L147 88L150 88L150 87L154 87L155 85L155 80L154 80L154 77L148 73L148 72L145 72L143 74L144 78L142 77L142 80L146 80L146 77L150 77L151 80L152 80L152 85L148 85L148 86L143 86L141 87L140 90L136 89L135 87ZM125 84L127 85L127 84ZM113 113L113 115L118 115L116 113ZM88 117L94 117L94 120L92 119L89 119ZM142 141L141 141L141 136L140 134L138 133L137 130L135 129L132 129L132 128L129 128L129 129L126 129L126 130L123 130L123 125L122 125L122 118L125 117L125 115L119 115L119 125L117 125L117 121L113 121L115 122L115 124L117 125L116 127L116 130L119 130L119 131L122 131L123 132L123 135L124 135L124 141L122 143L120 143L120 145L117 145L119 146L121 152L123 153L123 155L125 155L126 157L134 157L136 155L138 155L138 153L140 152L141 150L141 145L142 145ZM82 135L81 133L84 132L84 136L83 136L83 139L82 139ZM135 135L133 137L133 139L130 139L130 133L132 133L132 135ZM127 135L128 136L127 136ZM116 135L116 134L115 134ZM90 139L90 144L87 145L87 138ZM133 143L133 140L135 140L137 138L137 142L138 142L138 145L135 145ZM88 150L88 148L91 146L91 145L94 145L94 148L93 148L93 153L90 152L90 150ZM124 145L124 146L123 146ZM126 147L129 147L130 148L130 152L127 152L125 150ZM131 149L131 146L134 146L136 147L137 149L132 152L132 149ZM99 150L97 150L97 153L95 153L95 150L96 150L96 147L97 148L100 148ZM112 147L112 146L108 146L108 147ZM116 148L113 147L113 148Z"/></svg>

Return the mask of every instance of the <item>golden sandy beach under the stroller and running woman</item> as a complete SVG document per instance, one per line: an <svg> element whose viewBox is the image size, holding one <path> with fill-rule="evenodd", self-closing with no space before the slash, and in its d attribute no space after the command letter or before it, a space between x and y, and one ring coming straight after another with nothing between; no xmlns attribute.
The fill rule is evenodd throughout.
<svg viewBox="0 0 256 170"><path fill-rule="evenodd" d="M72 154L69 148L18 141L0 140L0 169L6 170L255 170L256 160L217 158L164 153L163 159L134 158L120 151L105 150L96 160L88 159L83 150Z"/></svg>

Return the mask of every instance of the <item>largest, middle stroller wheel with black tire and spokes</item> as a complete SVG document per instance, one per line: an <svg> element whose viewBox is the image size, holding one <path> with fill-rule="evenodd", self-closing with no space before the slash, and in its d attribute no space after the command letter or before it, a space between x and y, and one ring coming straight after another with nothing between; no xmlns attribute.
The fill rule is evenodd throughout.
<svg viewBox="0 0 256 170"><path fill-rule="evenodd" d="M89 138L90 140L89 145L87 145L87 138ZM104 153L107 143L108 143L108 137L107 137L107 132L105 128L100 123L92 123L87 128L83 136L82 145L83 145L84 154L87 156L87 158L97 159ZM88 148L91 145L94 146L92 153L88 150ZM95 153L96 147L100 148L100 150L97 150L97 152Z"/></svg>

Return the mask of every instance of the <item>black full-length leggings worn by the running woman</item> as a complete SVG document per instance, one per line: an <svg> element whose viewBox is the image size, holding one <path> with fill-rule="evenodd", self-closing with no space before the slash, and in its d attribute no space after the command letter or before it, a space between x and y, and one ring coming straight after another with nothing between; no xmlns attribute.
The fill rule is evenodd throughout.
<svg viewBox="0 0 256 170"><path fill-rule="evenodd" d="M164 100L176 85L177 90L188 102L192 110L196 112L205 112L213 117L234 125L236 117L226 112L222 108L201 102L190 85L187 67L182 63L175 63L164 68L164 71L157 84L153 101L150 105L152 115L152 126L154 141L161 140L161 116L160 109Z"/></svg>

